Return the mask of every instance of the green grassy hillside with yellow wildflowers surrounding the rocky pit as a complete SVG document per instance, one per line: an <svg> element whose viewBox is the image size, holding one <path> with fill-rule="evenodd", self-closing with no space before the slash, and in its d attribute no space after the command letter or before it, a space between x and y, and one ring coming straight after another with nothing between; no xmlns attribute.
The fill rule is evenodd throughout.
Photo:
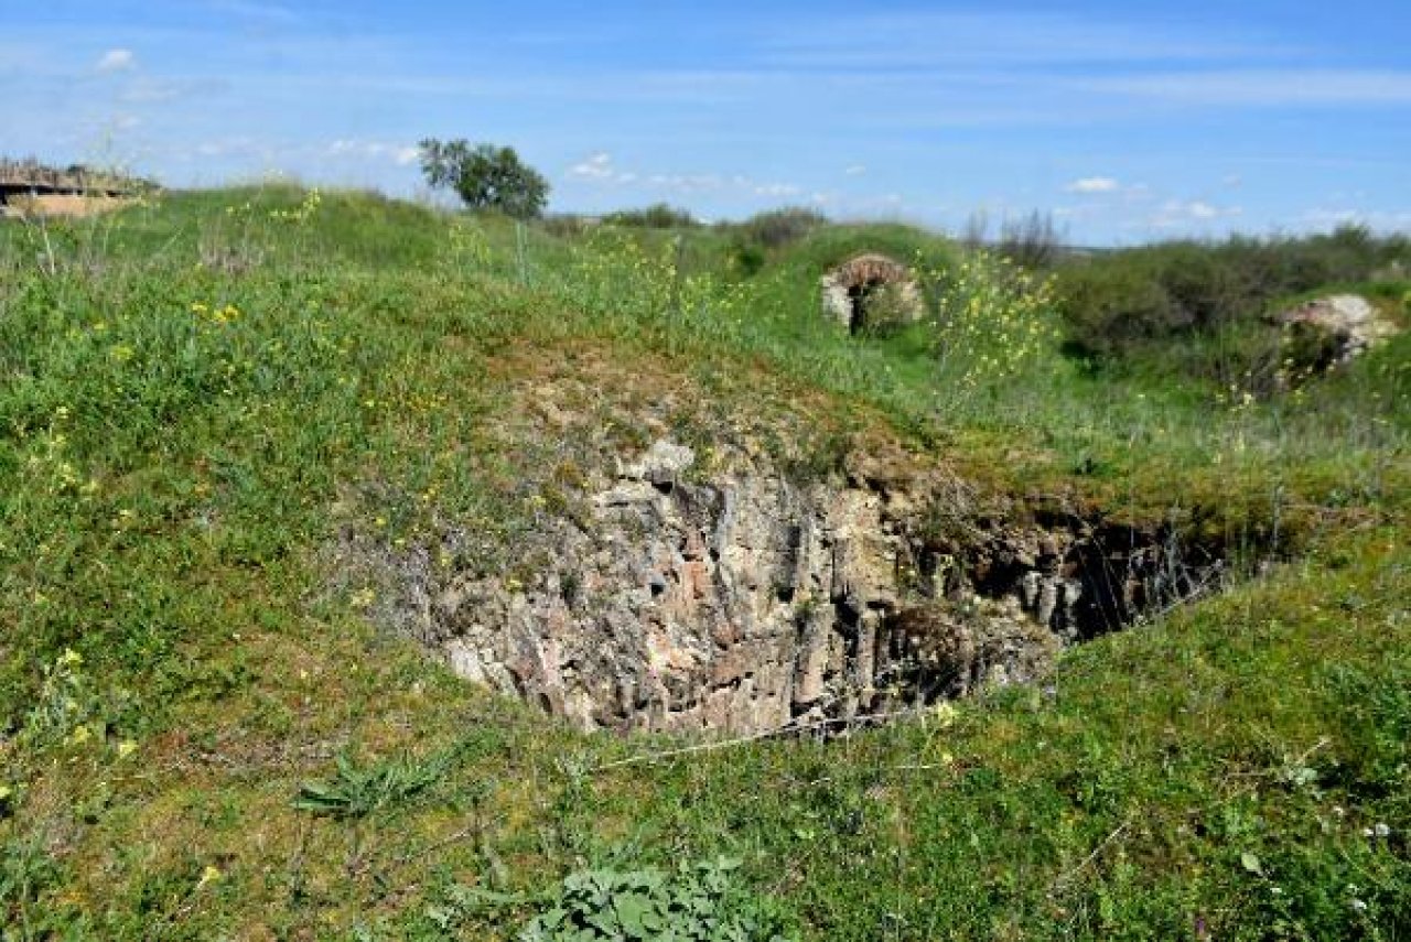
<svg viewBox="0 0 1411 942"><path fill-rule="evenodd" d="M555 905L665 938L663 900L722 919L680 938L1411 936L1411 334L1256 396L1068 357L1044 279L930 234L751 272L679 236L279 188L0 227L4 939L612 938L533 935ZM825 324L861 248L933 319ZM563 389L622 448L883 441L1198 512L1249 571L838 740L577 733L385 630L340 558L454 525L509 573L591 457L536 419Z"/></svg>

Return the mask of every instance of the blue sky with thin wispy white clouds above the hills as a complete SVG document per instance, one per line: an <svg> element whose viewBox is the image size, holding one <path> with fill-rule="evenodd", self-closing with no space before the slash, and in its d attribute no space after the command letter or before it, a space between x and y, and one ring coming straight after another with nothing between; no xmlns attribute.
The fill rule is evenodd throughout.
<svg viewBox="0 0 1411 942"><path fill-rule="evenodd" d="M416 195L466 137L555 210L1411 230L1405 0L0 0L0 154L168 185Z"/></svg>

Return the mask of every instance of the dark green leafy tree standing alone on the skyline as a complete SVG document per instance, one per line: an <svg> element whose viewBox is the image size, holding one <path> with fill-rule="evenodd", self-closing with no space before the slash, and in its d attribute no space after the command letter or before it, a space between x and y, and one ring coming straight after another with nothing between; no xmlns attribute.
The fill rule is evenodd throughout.
<svg viewBox="0 0 1411 942"><path fill-rule="evenodd" d="M549 200L549 181L522 164L512 147L426 138L420 148L426 182L456 190L471 209L531 219Z"/></svg>

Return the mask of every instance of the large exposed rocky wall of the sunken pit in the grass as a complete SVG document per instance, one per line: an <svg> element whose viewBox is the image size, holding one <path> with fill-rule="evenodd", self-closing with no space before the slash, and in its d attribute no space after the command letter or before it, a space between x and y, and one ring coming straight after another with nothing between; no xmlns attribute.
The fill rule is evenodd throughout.
<svg viewBox="0 0 1411 942"><path fill-rule="evenodd" d="M1157 532L981 520L959 491L801 484L734 453L696 464L658 441L515 574L404 565L399 626L587 728L749 733L1034 680L1064 643L1218 578Z"/></svg>

